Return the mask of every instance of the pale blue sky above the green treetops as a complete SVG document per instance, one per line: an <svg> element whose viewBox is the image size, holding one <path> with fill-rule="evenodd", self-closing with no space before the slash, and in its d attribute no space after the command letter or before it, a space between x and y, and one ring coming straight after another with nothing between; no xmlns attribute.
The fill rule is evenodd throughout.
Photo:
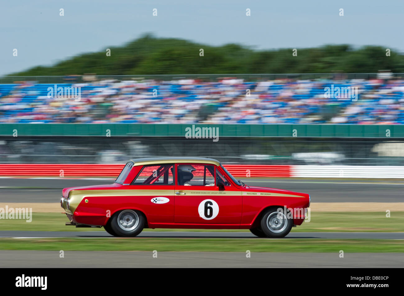
<svg viewBox="0 0 404 296"><path fill-rule="evenodd" d="M256 49L348 43L404 52L403 8L402 0L3 0L0 75L119 46L144 33Z"/></svg>

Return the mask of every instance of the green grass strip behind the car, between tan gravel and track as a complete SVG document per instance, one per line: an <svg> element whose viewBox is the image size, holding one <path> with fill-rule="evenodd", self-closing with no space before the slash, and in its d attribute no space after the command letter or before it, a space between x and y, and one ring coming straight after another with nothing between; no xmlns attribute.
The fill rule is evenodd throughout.
<svg viewBox="0 0 404 296"><path fill-rule="evenodd" d="M0 219L0 230L25 231L104 231L103 228L75 228L65 226L66 215L58 213L32 213L32 222L19 219ZM248 230L188 230L145 229L144 231L248 231ZM320 212L311 213L311 221L292 228L292 232L404 232L404 212Z"/></svg>

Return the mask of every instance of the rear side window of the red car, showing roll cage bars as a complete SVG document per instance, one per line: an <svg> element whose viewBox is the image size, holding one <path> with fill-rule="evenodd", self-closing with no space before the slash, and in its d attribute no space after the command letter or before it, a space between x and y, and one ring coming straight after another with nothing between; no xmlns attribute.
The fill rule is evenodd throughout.
<svg viewBox="0 0 404 296"><path fill-rule="evenodd" d="M131 185L174 185L174 165L144 166Z"/></svg>

